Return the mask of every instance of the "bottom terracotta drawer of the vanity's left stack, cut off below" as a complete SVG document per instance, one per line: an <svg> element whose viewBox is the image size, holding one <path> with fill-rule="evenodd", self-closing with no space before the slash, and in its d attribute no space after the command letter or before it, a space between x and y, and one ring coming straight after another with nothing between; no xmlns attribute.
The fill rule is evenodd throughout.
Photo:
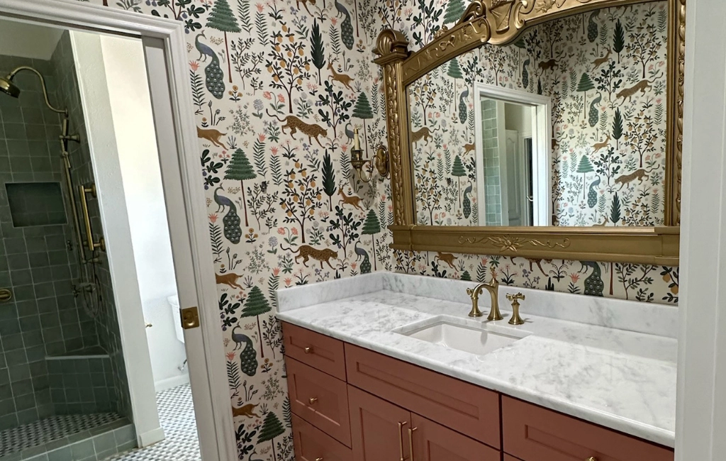
<svg viewBox="0 0 726 461"><path fill-rule="evenodd" d="M351 449L293 415L293 436L295 438L295 460L298 461L352 461Z"/></svg>

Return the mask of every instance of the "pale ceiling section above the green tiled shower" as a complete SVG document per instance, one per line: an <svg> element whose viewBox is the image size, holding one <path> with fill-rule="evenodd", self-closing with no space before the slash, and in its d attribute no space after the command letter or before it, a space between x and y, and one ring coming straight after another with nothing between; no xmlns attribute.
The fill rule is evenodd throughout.
<svg viewBox="0 0 726 461"><path fill-rule="evenodd" d="M0 55L49 60L63 29L0 19Z"/></svg>

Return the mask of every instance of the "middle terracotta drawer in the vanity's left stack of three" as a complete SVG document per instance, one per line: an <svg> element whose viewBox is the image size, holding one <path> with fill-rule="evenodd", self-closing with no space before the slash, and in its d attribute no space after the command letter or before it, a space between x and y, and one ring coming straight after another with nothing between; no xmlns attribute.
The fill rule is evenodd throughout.
<svg viewBox="0 0 726 461"><path fill-rule="evenodd" d="M293 413L351 446L346 383L290 357L285 363Z"/></svg>

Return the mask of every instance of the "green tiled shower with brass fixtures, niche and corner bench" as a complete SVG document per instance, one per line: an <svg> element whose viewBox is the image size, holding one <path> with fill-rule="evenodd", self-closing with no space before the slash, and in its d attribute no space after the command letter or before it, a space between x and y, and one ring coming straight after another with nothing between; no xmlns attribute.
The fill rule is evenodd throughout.
<svg viewBox="0 0 726 461"><path fill-rule="evenodd" d="M0 75L0 461L101 460L136 442L68 31Z"/></svg>

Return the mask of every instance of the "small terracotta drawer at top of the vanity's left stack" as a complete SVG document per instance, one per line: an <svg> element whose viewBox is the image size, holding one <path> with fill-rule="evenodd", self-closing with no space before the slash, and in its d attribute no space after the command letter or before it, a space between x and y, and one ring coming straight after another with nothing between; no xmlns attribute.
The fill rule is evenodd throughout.
<svg viewBox="0 0 726 461"><path fill-rule="evenodd" d="M293 357L339 380L346 380L343 341L282 322L285 356Z"/></svg>

